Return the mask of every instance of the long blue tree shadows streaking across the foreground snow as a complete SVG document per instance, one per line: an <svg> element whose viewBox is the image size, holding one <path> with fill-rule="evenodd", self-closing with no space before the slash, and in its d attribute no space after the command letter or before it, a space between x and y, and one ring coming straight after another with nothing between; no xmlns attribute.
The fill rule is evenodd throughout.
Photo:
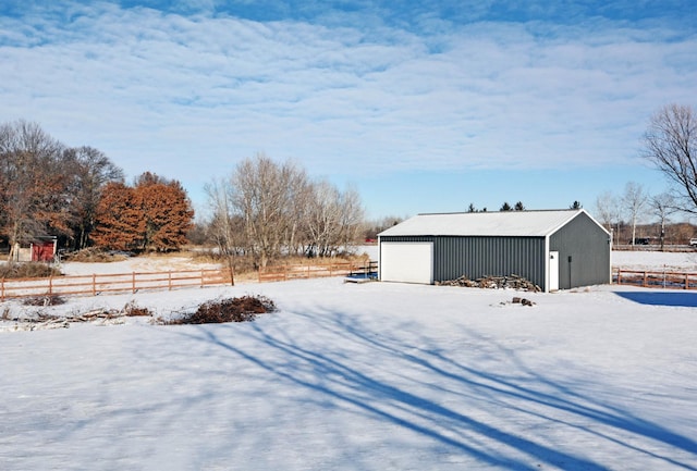
<svg viewBox="0 0 697 471"><path fill-rule="evenodd" d="M589 387L586 379L552 380L528 368L515 348L464 327L460 327L462 348L484 348L473 359L494 367L506 364L499 369L502 373L485 364L464 364L467 357L455 355L452 347L441 348L438 339L423 335L416 325L405 324L395 334L371 330L342 312L317 309L293 315L313 322L318 338L331 338L331 345L307 344L307 336L295 339L288 332L268 329L270 323L254 324L247 332L260 343L256 347L244 348L228 340L231 327L224 325L200 326L192 335L253 363L276 381L308 389L317 401L405 429L486 466L530 471L546 466L607 469L606 463L565 451L570 447L563 443L555 446L553 438L545 437L546 430L554 429L562 431L562 438L583 435L589 446L607 441L664 466L697 469L636 445L637 439L648 439L677 448L682 455L697 455L694 439L603 402L595 397L598 389ZM412 342L405 345L404 331L409 330ZM278 355L268 355L268 349ZM487 419L492 411L497 420ZM531 429L516 427L519 422Z"/></svg>

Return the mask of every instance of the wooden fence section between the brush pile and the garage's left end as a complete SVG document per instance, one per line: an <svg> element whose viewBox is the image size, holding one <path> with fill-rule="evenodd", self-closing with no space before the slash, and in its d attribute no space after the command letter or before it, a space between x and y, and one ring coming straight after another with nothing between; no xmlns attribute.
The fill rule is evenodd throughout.
<svg viewBox="0 0 697 471"><path fill-rule="evenodd" d="M298 278L318 278L325 276L365 275L377 273L377 262L334 262L327 264L294 264L260 268L259 283L283 282Z"/></svg>

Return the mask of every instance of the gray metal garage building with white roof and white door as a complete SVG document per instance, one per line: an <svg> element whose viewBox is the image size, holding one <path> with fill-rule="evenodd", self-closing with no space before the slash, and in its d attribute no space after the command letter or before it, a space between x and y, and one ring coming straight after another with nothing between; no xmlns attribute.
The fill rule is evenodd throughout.
<svg viewBox="0 0 697 471"><path fill-rule="evenodd" d="M515 274L543 292L607 284L611 240L583 209L419 214L378 235L379 278Z"/></svg>

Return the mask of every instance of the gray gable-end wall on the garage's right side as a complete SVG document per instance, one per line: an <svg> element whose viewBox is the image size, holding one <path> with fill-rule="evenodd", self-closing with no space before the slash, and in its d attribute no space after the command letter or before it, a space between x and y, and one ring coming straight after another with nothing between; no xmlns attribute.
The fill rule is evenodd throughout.
<svg viewBox="0 0 697 471"><path fill-rule="evenodd" d="M549 244L551 251L559 251L561 289L610 282L608 233L587 214L578 214L552 234Z"/></svg>

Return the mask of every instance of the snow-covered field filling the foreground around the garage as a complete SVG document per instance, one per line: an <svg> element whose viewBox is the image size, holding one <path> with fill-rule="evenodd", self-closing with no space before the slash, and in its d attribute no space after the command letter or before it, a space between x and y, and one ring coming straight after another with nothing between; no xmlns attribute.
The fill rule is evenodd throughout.
<svg viewBox="0 0 697 471"><path fill-rule="evenodd" d="M246 294L279 311L0 332L0 470L697 470L697 292L326 278L0 313L170 317Z"/></svg>

